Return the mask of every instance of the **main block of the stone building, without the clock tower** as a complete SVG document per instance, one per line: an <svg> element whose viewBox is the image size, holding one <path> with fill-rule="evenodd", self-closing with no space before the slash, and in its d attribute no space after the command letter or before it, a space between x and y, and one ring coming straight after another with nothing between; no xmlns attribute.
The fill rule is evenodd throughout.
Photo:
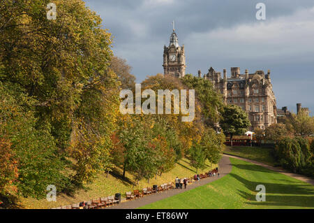
<svg viewBox="0 0 314 223"><path fill-rule="evenodd" d="M198 76L202 78L201 71ZM214 88L223 95L227 104L234 104L248 113L251 122L250 131L257 128L265 129L277 123L276 98L271 85L270 71L256 71L255 73L240 73L239 67L231 68L231 76L227 78L227 71L223 76L212 67L203 78L211 80Z"/></svg>

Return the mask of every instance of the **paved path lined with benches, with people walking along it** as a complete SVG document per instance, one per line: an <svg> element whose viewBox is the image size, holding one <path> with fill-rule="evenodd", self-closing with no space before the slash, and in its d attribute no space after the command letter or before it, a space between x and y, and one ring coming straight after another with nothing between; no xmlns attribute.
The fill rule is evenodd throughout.
<svg viewBox="0 0 314 223"><path fill-rule="evenodd" d="M167 190L165 192L160 192L157 194L151 194L149 196L144 196L140 199L135 199L133 201L126 201L126 202L119 204L118 206L112 206L112 207L108 207L106 209L140 208L140 207L145 206L149 203L154 203L156 201L160 201L160 200L165 199L167 197L186 192L190 189L195 189L196 187L200 187L202 185L207 185L209 182L213 182L214 180L218 180L220 178L223 178L225 175L227 175L228 173L231 172L232 165L231 165L229 157L224 155L218 164L218 168L219 168L219 174L220 174L219 178L217 175L214 177L211 177L211 178L204 178L200 181L193 182L193 184L191 184L191 185L187 185L186 189L170 189L170 190Z"/></svg>

